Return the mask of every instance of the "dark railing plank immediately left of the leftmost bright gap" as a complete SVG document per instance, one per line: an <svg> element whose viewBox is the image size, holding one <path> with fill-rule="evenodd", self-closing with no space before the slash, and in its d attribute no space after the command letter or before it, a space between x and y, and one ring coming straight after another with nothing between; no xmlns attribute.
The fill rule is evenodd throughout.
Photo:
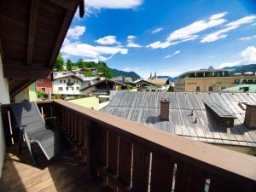
<svg viewBox="0 0 256 192"><path fill-rule="evenodd" d="M132 189L148 192L149 151L142 145L133 143Z"/></svg>

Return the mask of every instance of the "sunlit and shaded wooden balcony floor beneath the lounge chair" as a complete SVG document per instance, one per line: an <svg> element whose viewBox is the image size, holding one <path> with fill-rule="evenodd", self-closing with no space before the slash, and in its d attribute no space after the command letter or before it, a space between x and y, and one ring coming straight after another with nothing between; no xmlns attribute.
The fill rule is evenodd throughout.
<svg viewBox="0 0 256 192"><path fill-rule="evenodd" d="M16 148L8 148L0 191L101 191L99 183L90 182L86 166L72 150L50 161L41 155L38 163L39 167L32 165L27 149L17 156Z"/></svg>

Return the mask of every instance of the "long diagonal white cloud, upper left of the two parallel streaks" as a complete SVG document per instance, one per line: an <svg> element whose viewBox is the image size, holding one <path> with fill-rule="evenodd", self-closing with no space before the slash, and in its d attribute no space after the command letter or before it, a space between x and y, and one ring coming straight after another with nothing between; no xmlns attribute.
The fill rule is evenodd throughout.
<svg viewBox="0 0 256 192"><path fill-rule="evenodd" d="M156 41L152 44L148 44L146 47L152 49L165 49L174 44L192 41L199 37L197 35L198 33L210 29L214 26L220 26L227 22L227 20L222 18L226 14L227 12L219 13L217 15L212 15L208 20L197 20L191 23L189 26L184 26L172 32L166 38L165 42Z"/></svg>

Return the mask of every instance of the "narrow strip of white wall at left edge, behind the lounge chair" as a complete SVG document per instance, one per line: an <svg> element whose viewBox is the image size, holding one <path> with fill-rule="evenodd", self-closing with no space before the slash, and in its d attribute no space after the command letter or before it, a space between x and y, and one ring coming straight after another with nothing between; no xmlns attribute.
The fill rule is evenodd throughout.
<svg viewBox="0 0 256 192"><path fill-rule="evenodd" d="M7 79L3 79L3 62L0 55L0 103L7 104L9 103L9 85ZM1 108L0 108L1 114ZM0 177L2 175L3 168L3 158L5 154L5 142L3 134L3 120L2 115L0 115Z"/></svg>

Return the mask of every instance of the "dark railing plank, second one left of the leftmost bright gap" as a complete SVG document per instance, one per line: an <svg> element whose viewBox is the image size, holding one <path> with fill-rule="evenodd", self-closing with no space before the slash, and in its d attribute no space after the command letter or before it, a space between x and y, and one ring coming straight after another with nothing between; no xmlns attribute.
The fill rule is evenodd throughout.
<svg viewBox="0 0 256 192"><path fill-rule="evenodd" d="M119 182L125 187L131 185L131 141L119 137Z"/></svg>

